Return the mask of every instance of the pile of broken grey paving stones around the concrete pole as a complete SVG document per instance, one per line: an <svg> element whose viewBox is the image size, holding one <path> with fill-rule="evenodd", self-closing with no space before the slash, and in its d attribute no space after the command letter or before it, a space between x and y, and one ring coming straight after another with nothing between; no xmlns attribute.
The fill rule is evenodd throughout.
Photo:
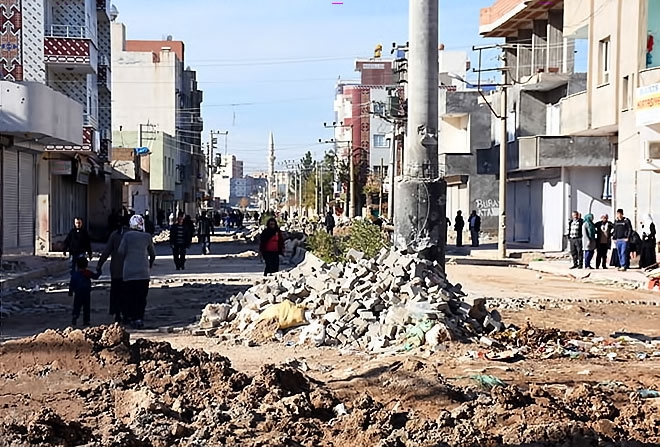
<svg viewBox="0 0 660 447"><path fill-rule="evenodd" d="M352 262L327 264L306 253L297 267L265 278L231 304L208 305L200 328L247 334L280 303L288 303L275 312L280 329L309 323L301 341L369 351L478 340L504 328L485 298L468 297L436 262L394 249L375 259L351 250L348 258ZM292 320L296 309L303 316Z"/></svg>

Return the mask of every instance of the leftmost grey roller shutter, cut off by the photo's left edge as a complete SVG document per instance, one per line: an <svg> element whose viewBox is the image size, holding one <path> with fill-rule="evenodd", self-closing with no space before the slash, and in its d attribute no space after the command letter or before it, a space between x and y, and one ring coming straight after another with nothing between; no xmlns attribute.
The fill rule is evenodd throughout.
<svg viewBox="0 0 660 447"><path fill-rule="evenodd" d="M18 152L5 150L2 166L3 249L16 252L18 244Z"/></svg>

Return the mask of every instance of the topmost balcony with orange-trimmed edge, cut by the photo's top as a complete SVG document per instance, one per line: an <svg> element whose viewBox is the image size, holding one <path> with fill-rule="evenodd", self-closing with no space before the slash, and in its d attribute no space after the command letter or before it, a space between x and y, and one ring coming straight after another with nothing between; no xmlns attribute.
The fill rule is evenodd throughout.
<svg viewBox="0 0 660 447"><path fill-rule="evenodd" d="M479 34L483 37L517 36L533 20L547 18L551 9L561 10L562 2L497 0L479 13Z"/></svg>

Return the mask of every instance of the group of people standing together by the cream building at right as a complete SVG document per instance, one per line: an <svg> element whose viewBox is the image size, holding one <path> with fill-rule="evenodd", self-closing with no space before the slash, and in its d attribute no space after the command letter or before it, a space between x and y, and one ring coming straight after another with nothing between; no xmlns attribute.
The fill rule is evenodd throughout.
<svg viewBox="0 0 660 447"><path fill-rule="evenodd" d="M641 233L641 235L640 235ZM571 269L592 269L591 261L596 255L595 268L607 268L607 254L612 247L610 266L626 271L630 268L631 256L639 256L639 267L646 268L656 264L656 230L650 215L640 222L639 232L635 231L630 219L624 216L623 209L618 209L616 219L610 222L603 214L594 222L593 214L582 217L573 211L568 222L568 243L573 260Z"/></svg>

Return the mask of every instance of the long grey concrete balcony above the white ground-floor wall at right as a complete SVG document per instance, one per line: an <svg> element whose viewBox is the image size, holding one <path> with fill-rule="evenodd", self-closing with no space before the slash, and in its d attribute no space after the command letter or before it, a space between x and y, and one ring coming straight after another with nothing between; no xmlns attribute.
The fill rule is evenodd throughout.
<svg viewBox="0 0 660 447"><path fill-rule="evenodd" d="M518 169L607 167L612 162L609 148L610 139L605 136L521 137L518 139Z"/></svg>

